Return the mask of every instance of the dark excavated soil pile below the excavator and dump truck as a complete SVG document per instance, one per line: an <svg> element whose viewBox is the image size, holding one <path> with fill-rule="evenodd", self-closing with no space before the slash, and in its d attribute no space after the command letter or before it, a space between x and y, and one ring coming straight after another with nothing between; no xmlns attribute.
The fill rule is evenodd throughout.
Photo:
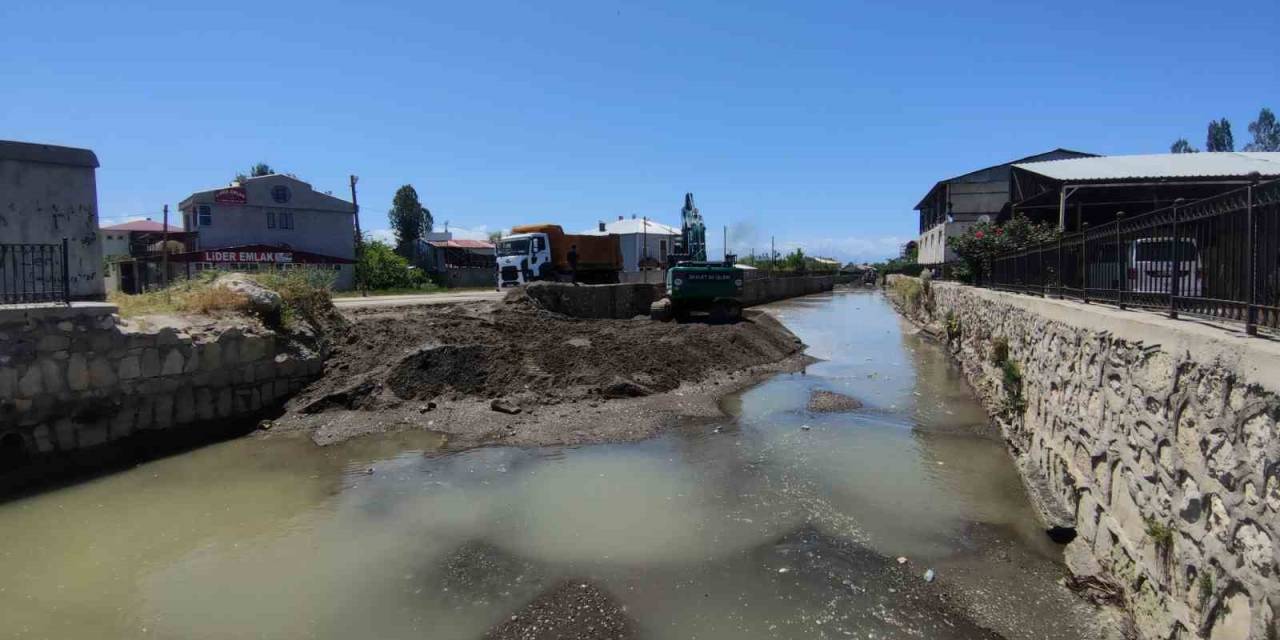
<svg viewBox="0 0 1280 640"><path fill-rule="evenodd" d="M527 300L364 310L335 328L324 376L296 413L404 401L503 398L516 407L634 398L800 352L773 317L732 325L573 319Z"/></svg>

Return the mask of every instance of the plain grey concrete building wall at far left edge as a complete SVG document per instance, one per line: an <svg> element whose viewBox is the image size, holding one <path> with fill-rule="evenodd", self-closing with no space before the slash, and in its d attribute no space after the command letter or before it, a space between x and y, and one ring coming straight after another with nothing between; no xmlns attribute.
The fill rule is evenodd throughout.
<svg viewBox="0 0 1280 640"><path fill-rule="evenodd" d="M65 238L74 300L106 296L96 168L97 157L84 148L0 141L0 242L61 244Z"/></svg>

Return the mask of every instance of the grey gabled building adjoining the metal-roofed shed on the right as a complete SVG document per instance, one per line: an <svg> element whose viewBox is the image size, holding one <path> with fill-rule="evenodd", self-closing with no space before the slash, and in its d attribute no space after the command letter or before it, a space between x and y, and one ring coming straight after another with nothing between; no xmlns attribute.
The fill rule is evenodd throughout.
<svg viewBox="0 0 1280 640"><path fill-rule="evenodd" d="M915 205L920 216L916 261L922 265L940 265L955 260L955 252L947 247L947 238L964 233L978 221L997 221L1001 215L1007 215L1009 177L1012 165L1073 157L1094 157L1094 155L1055 148L940 180Z"/></svg>

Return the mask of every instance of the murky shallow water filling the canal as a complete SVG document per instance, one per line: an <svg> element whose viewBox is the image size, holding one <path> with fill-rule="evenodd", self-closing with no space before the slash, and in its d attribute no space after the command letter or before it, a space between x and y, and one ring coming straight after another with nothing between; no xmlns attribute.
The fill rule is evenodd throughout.
<svg viewBox="0 0 1280 640"><path fill-rule="evenodd" d="M645 637L1092 634L945 355L873 293L772 311L823 361L718 425L462 453L242 439L0 504L0 634L477 637L564 579ZM813 389L865 406L810 415Z"/></svg>

